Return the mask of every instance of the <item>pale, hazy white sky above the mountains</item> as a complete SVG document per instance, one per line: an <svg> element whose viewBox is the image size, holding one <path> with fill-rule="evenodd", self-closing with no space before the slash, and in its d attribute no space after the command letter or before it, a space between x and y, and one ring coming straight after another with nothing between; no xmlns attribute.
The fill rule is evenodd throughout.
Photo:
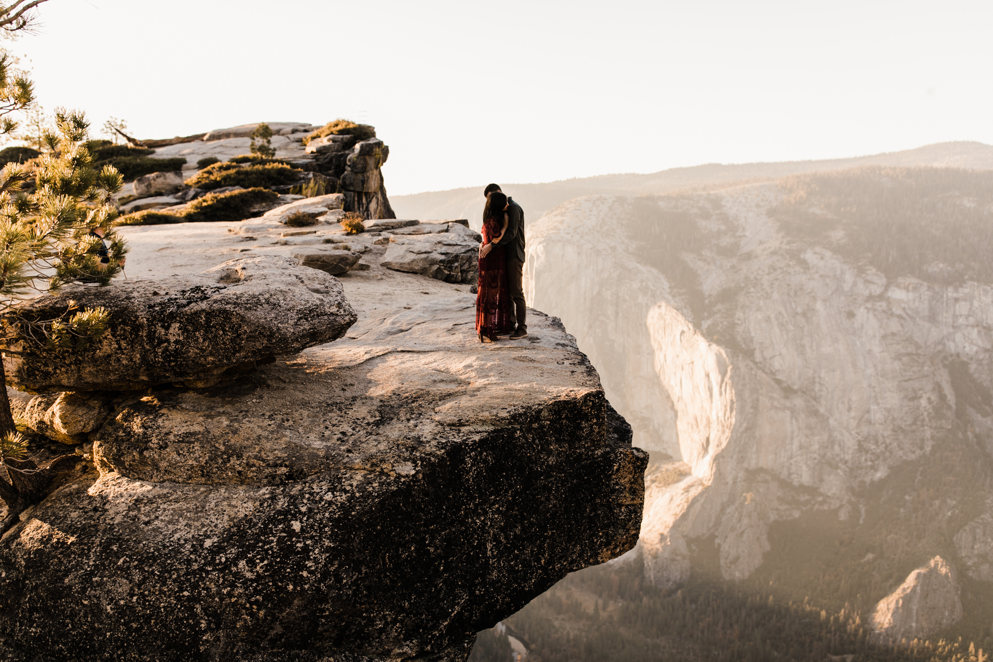
<svg viewBox="0 0 993 662"><path fill-rule="evenodd" d="M390 194L993 143L993 2L50 0L41 103L374 124Z"/></svg>

